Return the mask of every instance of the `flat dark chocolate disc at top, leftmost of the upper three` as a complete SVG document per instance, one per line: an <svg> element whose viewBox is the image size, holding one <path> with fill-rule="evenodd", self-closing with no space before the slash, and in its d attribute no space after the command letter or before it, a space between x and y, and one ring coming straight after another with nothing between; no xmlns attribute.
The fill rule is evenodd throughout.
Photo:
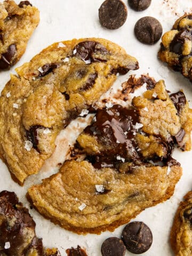
<svg viewBox="0 0 192 256"><path fill-rule="evenodd" d="M127 8L121 0L106 0L99 8L99 20L103 27L117 29L127 18Z"/></svg>

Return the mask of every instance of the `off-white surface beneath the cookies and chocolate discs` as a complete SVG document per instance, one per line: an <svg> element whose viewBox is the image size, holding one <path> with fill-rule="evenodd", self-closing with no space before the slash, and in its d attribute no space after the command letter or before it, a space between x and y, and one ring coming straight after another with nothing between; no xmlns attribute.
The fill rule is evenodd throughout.
<svg viewBox="0 0 192 256"><path fill-rule="evenodd" d="M2 1L1 1L2 2ZM127 0L124 1L127 4ZM17 1L19 3L19 1ZM167 89L176 92L183 89L188 100L192 100L192 84L180 74L167 69L162 62L157 59L159 42L156 45L143 45L137 41L133 34L135 22L144 16L153 16L161 21L163 31L171 29L174 21L183 15L184 12L192 11L192 0L152 0L150 7L143 12L134 12L128 7L128 17L123 27L118 30L107 30L100 26L98 20L98 9L102 0L31 0L31 3L38 7L41 12L41 22L27 46L26 53L15 65L18 67L22 63L29 61L35 54L44 47L54 43L80 37L103 37L123 46L127 53L136 57L140 64L140 69L130 74L149 73L156 80L164 79ZM14 68L15 68L14 67ZM0 72L0 89L9 80L9 71ZM129 75L119 77L116 84L121 84ZM192 104L190 102L190 106ZM75 125L75 124L74 124ZM65 135L65 132L64 132ZM74 137L71 137L73 140ZM63 139L63 144L68 142ZM169 246L169 232L173 220L173 215L178 203L188 190L192 189L192 151L182 153L176 150L174 157L178 159L183 167L183 175L175 188L174 196L167 202L159 204L153 208L143 211L136 220L144 221L153 231L154 241L150 250L143 255L147 256L171 256L173 255ZM35 163L34 163L35 164ZM52 164L53 165L53 164ZM40 174L30 177L25 186L20 187L14 183L5 164L0 162L0 190L6 189L15 191L21 202L29 206L25 194L31 183L41 182L41 178L49 177L51 173L57 172L57 168L50 167L49 172L45 172L49 167L46 164ZM41 217L35 210L30 210L36 221L36 232L39 237L43 237L44 245L47 247L57 246L62 255L66 255L65 250L71 246L81 245L86 247L89 256L100 256L102 242L109 236L121 236L123 229L119 227L112 234L109 232L101 235L79 236L69 231L53 225L48 220ZM126 255L133 255L126 252Z"/></svg>

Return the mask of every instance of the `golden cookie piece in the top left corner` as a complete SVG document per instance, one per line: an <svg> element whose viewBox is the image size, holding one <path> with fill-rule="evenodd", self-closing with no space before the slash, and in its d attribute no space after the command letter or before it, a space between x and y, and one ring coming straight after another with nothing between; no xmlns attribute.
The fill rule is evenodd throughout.
<svg viewBox="0 0 192 256"><path fill-rule="evenodd" d="M17 63L39 23L39 11L28 1L0 3L0 69Z"/></svg>

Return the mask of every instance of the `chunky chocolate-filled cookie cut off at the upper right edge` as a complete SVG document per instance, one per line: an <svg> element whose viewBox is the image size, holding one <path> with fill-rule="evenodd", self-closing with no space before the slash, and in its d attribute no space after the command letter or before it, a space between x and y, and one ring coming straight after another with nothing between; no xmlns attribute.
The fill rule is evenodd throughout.
<svg viewBox="0 0 192 256"><path fill-rule="evenodd" d="M158 58L192 82L192 14L175 21L172 30L162 37Z"/></svg>

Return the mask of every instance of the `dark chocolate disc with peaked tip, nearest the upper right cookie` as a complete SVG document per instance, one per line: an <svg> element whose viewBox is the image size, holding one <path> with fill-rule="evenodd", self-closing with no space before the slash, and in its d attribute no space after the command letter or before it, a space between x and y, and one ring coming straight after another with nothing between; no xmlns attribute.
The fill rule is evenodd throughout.
<svg viewBox="0 0 192 256"><path fill-rule="evenodd" d="M162 36L161 23L153 17L143 17L135 24L134 33L144 44L155 44Z"/></svg>

